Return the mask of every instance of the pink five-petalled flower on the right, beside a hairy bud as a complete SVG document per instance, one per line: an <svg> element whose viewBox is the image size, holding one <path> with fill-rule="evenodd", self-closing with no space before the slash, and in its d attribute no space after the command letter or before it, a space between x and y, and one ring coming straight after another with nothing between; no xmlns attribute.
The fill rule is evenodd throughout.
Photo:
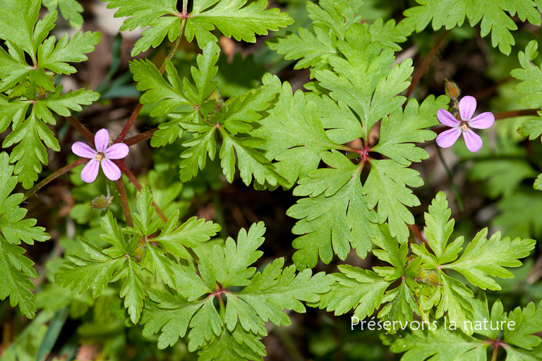
<svg viewBox="0 0 542 361"><path fill-rule="evenodd" d="M482 138L474 133L471 128L487 129L495 123L495 116L489 111L486 111L486 113L482 113L472 118L475 110L476 99L468 95L459 101L460 121L452 116L450 111L438 109L437 118L440 123L452 128L438 135L438 146L441 148L452 147L457 138L459 138L459 135L463 134L466 148L471 152L478 152L482 147Z"/></svg>

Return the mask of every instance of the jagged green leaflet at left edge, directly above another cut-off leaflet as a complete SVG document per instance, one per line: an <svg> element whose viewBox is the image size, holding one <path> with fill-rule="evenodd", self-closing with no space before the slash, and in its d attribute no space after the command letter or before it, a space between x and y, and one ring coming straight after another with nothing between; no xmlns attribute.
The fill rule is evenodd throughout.
<svg viewBox="0 0 542 361"><path fill-rule="evenodd" d="M27 209L19 207L23 194L11 195L16 188L17 177L13 176L13 166L9 164L6 152L0 153L0 231L5 240L12 245L21 241L33 245L34 241L44 242L51 238L45 228L36 227L35 219L24 219Z"/></svg>

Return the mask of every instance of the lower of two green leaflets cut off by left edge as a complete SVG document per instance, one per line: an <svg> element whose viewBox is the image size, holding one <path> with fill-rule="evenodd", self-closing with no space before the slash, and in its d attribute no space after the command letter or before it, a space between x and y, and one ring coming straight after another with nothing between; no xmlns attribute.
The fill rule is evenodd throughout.
<svg viewBox="0 0 542 361"><path fill-rule="evenodd" d="M37 278L32 268L34 262L23 256L25 250L18 245L8 243L0 235L0 300L9 296L11 307L19 305L20 312L29 319L34 318L36 307L32 300L35 295L28 289L34 289L28 277Z"/></svg>

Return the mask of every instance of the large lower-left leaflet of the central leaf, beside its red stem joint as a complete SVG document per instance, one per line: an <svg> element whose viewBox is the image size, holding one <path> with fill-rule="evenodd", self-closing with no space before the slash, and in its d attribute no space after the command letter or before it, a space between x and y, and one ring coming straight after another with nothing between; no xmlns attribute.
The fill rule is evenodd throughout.
<svg viewBox="0 0 542 361"><path fill-rule="evenodd" d="M299 269L315 267L318 257L325 264L335 253L346 259L350 247L361 258L371 250L376 214L367 209L361 185L361 166L343 154L320 154L329 168L318 169L302 178L294 195L310 195L290 207L287 214L299 219L292 229L300 235L292 245L298 249L292 259Z"/></svg>

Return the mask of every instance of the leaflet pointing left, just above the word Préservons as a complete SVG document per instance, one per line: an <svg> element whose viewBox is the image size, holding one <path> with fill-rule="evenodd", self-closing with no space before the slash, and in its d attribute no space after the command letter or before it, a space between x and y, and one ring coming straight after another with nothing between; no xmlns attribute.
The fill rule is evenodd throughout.
<svg viewBox="0 0 542 361"><path fill-rule="evenodd" d="M342 274L334 274L335 283L330 292L320 295L315 303L327 312L335 311L340 316L354 309L354 317L363 319L371 316L382 303L384 292L391 282L385 281L373 271L360 269L348 264L338 266Z"/></svg>

